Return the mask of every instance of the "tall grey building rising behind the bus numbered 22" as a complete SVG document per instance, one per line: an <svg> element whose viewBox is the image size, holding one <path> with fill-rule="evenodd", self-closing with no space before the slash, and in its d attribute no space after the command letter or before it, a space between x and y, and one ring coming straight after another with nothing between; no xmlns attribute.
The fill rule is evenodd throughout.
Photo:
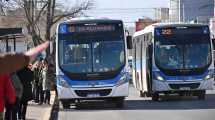
<svg viewBox="0 0 215 120"><path fill-rule="evenodd" d="M170 0L170 21L209 23L214 16L214 0Z"/></svg>

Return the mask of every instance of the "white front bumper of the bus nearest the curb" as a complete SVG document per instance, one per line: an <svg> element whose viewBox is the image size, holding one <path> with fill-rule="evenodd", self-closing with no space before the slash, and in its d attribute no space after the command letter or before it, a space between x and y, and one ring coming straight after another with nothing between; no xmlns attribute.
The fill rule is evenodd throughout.
<svg viewBox="0 0 215 120"><path fill-rule="evenodd" d="M71 87L57 86L58 98L64 99L101 99L110 97L127 97L129 83L113 87Z"/></svg>

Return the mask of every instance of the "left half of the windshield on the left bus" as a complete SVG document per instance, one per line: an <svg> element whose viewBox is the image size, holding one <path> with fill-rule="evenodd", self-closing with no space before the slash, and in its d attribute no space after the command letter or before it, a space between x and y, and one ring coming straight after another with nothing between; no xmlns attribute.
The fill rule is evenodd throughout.
<svg viewBox="0 0 215 120"><path fill-rule="evenodd" d="M90 44L70 44L64 42L61 53L61 66L70 72L91 72ZM74 69L75 68L75 69Z"/></svg>

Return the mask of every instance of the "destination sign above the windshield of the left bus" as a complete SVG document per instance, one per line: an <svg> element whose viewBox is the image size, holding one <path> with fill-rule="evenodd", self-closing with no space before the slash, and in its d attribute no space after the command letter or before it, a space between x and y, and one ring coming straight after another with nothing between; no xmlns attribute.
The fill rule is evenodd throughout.
<svg viewBox="0 0 215 120"><path fill-rule="evenodd" d="M114 25L86 25L86 26L69 26L68 32L82 33L82 32L111 32L115 31Z"/></svg>

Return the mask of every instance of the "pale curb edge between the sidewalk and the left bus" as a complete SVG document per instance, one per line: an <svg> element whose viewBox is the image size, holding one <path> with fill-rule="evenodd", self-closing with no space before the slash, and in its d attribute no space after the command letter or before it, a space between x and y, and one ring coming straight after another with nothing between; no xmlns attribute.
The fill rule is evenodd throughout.
<svg viewBox="0 0 215 120"><path fill-rule="evenodd" d="M55 103L55 99L56 99L55 91L51 91L51 98L50 98L51 107L46 110L45 115L43 116L42 120L50 120L52 109L53 109L53 106Z"/></svg>

